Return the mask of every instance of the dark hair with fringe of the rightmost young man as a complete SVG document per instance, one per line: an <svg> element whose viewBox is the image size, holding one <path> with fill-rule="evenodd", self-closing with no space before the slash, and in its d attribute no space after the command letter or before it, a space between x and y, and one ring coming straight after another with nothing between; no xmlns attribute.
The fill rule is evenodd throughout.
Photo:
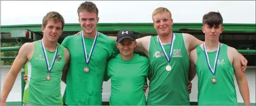
<svg viewBox="0 0 256 106"><path fill-rule="evenodd" d="M208 12L203 16L203 25L209 25L210 27L223 25L223 19L220 12Z"/></svg>

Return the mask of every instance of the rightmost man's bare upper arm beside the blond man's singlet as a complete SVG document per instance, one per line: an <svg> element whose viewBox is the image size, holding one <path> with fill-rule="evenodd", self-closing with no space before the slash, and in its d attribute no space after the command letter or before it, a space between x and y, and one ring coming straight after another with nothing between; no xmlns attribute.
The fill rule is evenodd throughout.
<svg viewBox="0 0 256 106"><path fill-rule="evenodd" d="M196 60L198 58L198 54L196 54L196 49L192 50L189 53L189 58L190 58L190 66L189 66L188 80L192 81L196 75L195 64L196 64Z"/></svg>

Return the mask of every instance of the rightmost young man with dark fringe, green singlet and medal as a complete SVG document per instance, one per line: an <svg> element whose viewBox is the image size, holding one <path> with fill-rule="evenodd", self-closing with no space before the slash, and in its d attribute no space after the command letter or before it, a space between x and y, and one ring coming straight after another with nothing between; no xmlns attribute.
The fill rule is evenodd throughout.
<svg viewBox="0 0 256 106"><path fill-rule="evenodd" d="M250 94L245 73L241 71L239 53L235 48L219 42L223 19L219 12L203 16L203 44L190 52L191 78L198 74L199 105L238 105L233 74L236 75L245 105L250 105Z"/></svg>

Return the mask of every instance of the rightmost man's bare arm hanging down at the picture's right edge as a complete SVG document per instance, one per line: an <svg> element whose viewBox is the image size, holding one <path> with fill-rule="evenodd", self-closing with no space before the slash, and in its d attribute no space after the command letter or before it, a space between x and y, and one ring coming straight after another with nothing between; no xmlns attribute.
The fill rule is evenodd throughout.
<svg viewBox="0 0 256 106"><path fill-rule="evenodd" d="M239 92L243 97L245 105L250 105L250 93L247 84L247 79L245 77L245 73L241 71L241 62L240 56L236 49L229 47L230 55L233 58L233 68L235 70L235 75L237 79L237 84L239 87ZM228 50L229 50L228 49Z"/></svg>

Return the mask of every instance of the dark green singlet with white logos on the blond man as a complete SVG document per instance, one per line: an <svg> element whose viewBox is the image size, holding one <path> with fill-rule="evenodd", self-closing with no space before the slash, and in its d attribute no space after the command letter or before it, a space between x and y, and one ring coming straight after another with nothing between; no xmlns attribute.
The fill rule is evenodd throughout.
<svg viewBox="0 0 256 106"><path fill-rule="evenodd" d="M174 33L174 45L170 65L171 71L166 71L168 62L157 41L158 36L151 36L149 47L150 72L148 105L189 105L188 71L189 57L184 36ZM166 54L170 54L170 44L163 45Z"/></svg>

